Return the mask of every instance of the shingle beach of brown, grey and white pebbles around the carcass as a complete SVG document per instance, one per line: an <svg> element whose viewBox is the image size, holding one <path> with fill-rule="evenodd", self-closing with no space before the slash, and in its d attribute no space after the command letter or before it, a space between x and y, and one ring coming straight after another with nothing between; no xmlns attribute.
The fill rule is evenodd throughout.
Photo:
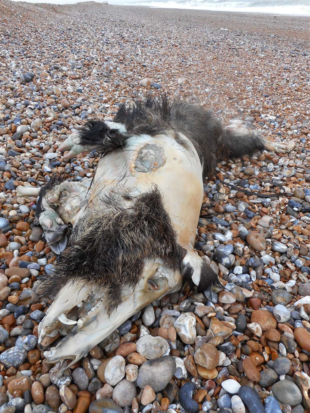
<svg viewBox="0 0 310 413"><path fill-rule="evenodd" d="M1 0L0 413L310 412L308 39L307 17ZM57 256L17 189L93 176L98 154L61 142L164 92L295 148L205 181L195 248L225 290L154 301L58 373L36 294Z"/></svg>

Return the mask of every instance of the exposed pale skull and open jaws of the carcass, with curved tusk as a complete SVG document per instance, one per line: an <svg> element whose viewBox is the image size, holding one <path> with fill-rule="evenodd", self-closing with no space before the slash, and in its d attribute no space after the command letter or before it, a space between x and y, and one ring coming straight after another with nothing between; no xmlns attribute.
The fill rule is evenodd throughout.
<svg viewBox="0 0 310 413"><path fill-rule="evenodd" d="M180 287L179 271L163 266L160 259L145 263L140 282L134 290L123 288L122 302L109 317L104 305L105 291L67 283L38 327L39 343L43 347L55 332L67 334L56 347L45 351L48 363L72 358L71 366L143 307Z"/></svg>

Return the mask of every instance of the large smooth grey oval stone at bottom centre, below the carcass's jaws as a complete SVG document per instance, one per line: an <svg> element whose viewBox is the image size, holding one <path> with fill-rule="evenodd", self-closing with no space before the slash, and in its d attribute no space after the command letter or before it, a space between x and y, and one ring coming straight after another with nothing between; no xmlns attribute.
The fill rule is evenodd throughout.
<svg viewBox="0 0 310 413"><path fill-rule="evenodd" d="M167 386L175 371L176 362L171 356L145 361L139 368L137 385L140 389L149 385L155 393L160 392Z"/></svg>

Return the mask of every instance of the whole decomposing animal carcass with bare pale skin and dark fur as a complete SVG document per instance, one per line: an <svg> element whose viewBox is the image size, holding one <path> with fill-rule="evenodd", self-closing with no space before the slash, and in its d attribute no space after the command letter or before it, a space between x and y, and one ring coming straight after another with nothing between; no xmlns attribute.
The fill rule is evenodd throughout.
<svg viewBox="0 0 310 413"><path fill-rule="evenodd" d="M75 363L182 282L198 291L218 285L194 250L203 178L217 159L294 146L269 142L242 122L223 128L206 109L165 95L124 104L114 121L88 121L70 135L59 147L69 150L64 159L91 151L101 157L93 178L52 176L39 192L36 220L60 254L38 287L54 299L39 342L65 336L45 352L47 361Z"/></svg>

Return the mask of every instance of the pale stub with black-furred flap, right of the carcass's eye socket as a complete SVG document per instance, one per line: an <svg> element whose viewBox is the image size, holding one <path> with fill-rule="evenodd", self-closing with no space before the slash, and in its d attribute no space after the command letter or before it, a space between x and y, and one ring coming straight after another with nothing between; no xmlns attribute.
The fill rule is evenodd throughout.
<svg viewBox="0 0 310 413"><path fill-rule="evenodd" d="M184 256L181 261L183 283L192 280L197 285L198 292L205 291L212 285L220 286L217 274L201 256L188 248L183 248L182 253Z"/></svg>

